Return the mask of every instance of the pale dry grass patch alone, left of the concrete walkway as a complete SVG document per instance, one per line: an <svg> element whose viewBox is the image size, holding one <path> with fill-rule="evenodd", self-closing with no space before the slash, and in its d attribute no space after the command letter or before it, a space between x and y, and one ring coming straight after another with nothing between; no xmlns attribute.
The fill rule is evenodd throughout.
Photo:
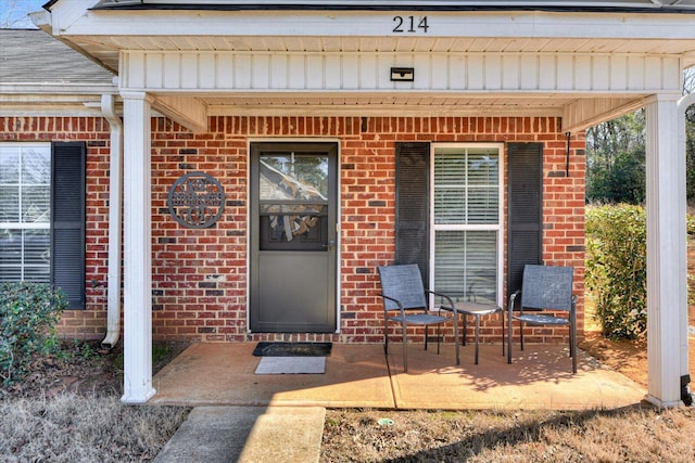
<svg viewBox="0 0 695 463"><path fill-rule="evenodd" d="M0 460L151 460L187 415L184 408L124 406L116 396L10 399L0 402Z"/></svg>

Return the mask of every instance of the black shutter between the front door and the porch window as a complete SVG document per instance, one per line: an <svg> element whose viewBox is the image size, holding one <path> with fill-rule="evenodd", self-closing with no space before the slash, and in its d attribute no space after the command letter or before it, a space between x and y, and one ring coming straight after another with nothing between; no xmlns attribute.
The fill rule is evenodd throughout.
<svg viewBox="0 0 695 463"><path fill-rule="evenodd" d="M395 262L429 269L429 143L395 145Z"/></svg>

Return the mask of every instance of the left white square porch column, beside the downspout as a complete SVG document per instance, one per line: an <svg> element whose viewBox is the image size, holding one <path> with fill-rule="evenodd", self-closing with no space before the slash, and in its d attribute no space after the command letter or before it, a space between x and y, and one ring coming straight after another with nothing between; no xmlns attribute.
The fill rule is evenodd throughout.
<svg viewBox="0 0 695 463"><path fill-rule="evenodd" d="M143 403L152 387L151 100L123 92L124 112L124 395Z"/></svg>

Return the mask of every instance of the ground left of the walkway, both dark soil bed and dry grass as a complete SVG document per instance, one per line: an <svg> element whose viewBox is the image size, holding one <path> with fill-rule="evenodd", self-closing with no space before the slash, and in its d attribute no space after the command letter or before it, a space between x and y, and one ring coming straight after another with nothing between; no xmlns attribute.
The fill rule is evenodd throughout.
<svg viewBox="0 0 695 463"><path fill-rule="evenodd" d="M185 345L155 345L157 370ZM21 383L0 387L0 461L149 461L189 409L121 403L121 348L65 343L59 356L36 359Z"/></svg>

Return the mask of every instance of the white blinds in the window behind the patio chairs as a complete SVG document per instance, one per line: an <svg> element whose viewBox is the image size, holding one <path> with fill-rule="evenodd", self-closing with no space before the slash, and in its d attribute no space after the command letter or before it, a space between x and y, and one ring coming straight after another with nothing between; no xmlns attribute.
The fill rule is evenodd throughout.
<svg viewBox="0 0 695 463"><path fill-rule="evenodd" d="M501 294L500 145L433 145L434 291L497 303Z"/></svg>

